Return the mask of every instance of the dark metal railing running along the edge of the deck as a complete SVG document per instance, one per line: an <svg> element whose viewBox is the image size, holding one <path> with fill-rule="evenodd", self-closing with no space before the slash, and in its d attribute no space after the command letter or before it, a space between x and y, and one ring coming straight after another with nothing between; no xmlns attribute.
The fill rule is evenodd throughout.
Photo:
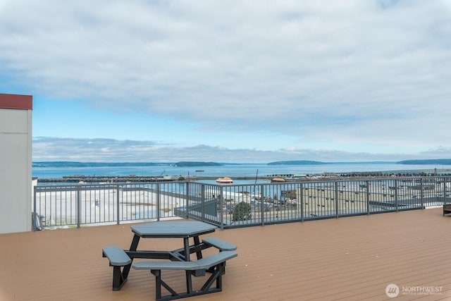
<svg viewBox="0 0 451 301"><path fill-rule="evenodd" d="M451 203L450 194L451 177L38 185L33 214L44 228L182 217L222 229L424 209Z"/></svg>

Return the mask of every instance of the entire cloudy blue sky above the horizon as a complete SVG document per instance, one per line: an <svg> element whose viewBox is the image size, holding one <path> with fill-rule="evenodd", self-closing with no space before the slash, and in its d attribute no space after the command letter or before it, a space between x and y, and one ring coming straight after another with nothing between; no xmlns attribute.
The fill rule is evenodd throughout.
<svg viewBox="0 0 451 301"><path fill-rule="evenodd" d="M451 0L0 0L33 161L451 158Z"/></svg>

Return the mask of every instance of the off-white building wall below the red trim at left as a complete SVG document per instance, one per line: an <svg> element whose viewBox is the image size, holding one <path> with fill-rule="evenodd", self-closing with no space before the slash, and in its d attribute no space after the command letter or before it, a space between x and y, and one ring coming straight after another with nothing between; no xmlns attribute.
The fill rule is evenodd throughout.
<svg viewBox="0 0 451 301"><path fill-rule="evenodd" d="M31 231L32 110L0 106L0 233Z"/></svg>

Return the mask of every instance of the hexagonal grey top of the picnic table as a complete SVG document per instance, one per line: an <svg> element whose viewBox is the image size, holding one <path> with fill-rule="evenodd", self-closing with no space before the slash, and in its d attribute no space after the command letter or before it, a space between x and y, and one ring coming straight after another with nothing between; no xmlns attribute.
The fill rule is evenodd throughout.
<svg viewBox="0 0 451 301"><path fill-rule="evenodd" d="M217 227L202 221L156 221L131 228L141 238L190 238L212 233Z"/></svg>

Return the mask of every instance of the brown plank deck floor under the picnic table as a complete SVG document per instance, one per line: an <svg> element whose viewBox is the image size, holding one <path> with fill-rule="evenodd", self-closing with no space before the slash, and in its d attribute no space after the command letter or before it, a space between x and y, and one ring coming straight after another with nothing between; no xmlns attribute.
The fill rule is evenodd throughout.
<svg viewBox="0 0 451 301"><path fill-rule="evenodd" d="M186 300L451 300L448 230L441 209L218 230L211 235L238 246L223 292ZM0 235L0 300L154 300L149 271L132 270L122 290L111 290L101 248L131 240L130 224ZM140 249L180 244L144 239ZM166 274L183 285L183 273ZM390 283L441 291L391 299Z"/></svg>

